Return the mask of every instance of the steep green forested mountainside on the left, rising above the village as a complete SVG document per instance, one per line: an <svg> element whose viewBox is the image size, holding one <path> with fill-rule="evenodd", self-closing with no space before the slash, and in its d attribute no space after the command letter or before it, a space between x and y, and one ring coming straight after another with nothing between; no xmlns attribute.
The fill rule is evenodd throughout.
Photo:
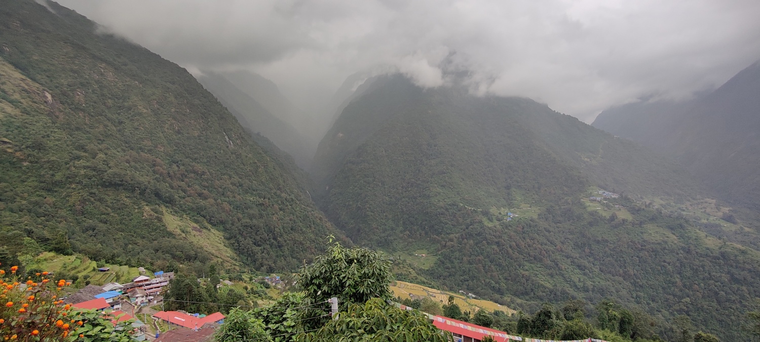
<svg viewBox="0 0 760 342"><path fill-rule="evenodd" d="M295 268L334 233L191 74L51 2L0 1L0 244ZM180 224L182 223L182 224ZM188 243L179 235L200 236Z"/></svg>

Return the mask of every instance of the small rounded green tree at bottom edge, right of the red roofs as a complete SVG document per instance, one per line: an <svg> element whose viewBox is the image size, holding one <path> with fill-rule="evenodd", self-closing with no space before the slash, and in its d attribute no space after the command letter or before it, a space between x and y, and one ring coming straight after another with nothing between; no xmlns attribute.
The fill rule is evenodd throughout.
<svg viewBox="0 0 760 342"><path fill-rule="evenodd" d="M216 332L215 340L217 342L273 341L271 335L266 331L264 322L256 318L254 312L239 308L230 310L230 313L224 318L224 324Z"/></svg>

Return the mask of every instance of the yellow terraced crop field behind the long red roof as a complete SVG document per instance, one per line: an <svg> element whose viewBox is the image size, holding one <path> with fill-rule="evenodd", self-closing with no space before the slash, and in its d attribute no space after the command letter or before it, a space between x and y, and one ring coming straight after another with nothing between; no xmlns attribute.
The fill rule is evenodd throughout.
<svg viewBox="0 0 760 342"><path fill-rule="evenodd" d="M441 302L442 305L448 303L448 296L454 296L454 303L456 303L462 309L462 311L476 312L479 309L483 309L488 312L501 310L503 312L507 312L508 314L515 313L515 310L509 309L508 307L499 305L495 302L490 302L488 300L482 299L471 299L461 293L435 290L430 287L418 285L416 283L407 283L406 281L397 280L394 283L391 283L391 291L393 291L394 296L401 297L403 299L414 299L427 296L430 299Z"/></svg>

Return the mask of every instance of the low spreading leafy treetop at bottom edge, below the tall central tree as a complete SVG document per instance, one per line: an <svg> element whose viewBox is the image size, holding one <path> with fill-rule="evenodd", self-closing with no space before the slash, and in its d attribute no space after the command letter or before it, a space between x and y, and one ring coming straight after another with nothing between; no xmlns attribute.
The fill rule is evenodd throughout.
<svg viewBox="0 0 760 342"><path fill-rule="evenodd" d="M299 334L302 342L396 342L429 341L448 342L454 338L435 325L420 312L401 310L374 298L363 304L352 304L340 312L336 320L318 331Z"/></svg>

